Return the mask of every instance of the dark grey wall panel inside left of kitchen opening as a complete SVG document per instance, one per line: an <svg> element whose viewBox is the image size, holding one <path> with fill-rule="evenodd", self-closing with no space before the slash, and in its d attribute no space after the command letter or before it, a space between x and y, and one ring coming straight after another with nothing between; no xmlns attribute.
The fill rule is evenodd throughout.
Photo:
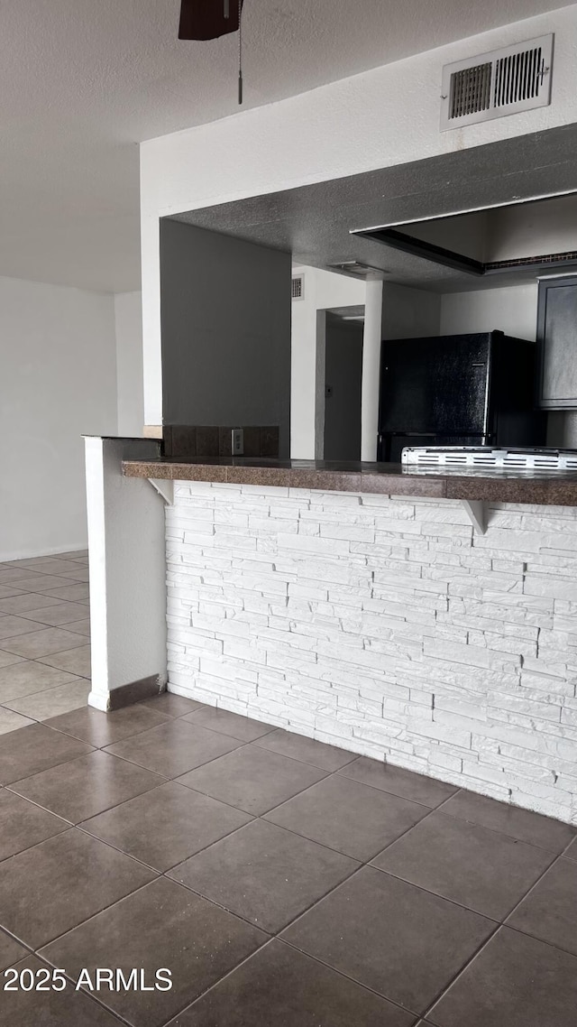
<svg viewBox="0 0 577 1027"><path fill-rule="evenodd" d="M165 424L272 425L291 448L291 254L160 223Z"/></svg>

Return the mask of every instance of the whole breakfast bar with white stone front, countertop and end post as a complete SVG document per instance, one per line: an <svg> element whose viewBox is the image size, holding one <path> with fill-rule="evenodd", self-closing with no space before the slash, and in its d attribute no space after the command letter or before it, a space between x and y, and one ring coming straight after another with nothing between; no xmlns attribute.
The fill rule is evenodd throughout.
<svg viewBox="0 0 577 1027"><path fill-rule="evenodd" d="M577 472L151 448L86 440L92 706L167 687L577 824Z"/></svg>

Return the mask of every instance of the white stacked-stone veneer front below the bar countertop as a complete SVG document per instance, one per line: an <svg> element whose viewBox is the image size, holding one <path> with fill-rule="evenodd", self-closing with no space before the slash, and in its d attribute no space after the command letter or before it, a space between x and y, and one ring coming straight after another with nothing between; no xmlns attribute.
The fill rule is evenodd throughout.
<svg viewBox="0 0 577 1027"><path fill-rule="evenodd" d="M577 823L577 510L175 483L169 688Z"/></svg>

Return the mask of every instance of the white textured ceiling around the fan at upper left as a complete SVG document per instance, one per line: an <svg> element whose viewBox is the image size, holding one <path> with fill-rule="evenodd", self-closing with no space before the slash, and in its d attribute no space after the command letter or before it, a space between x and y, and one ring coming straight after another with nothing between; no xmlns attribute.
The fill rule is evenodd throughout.
<svg viewBox="0 0 577 1027"><path fill-rule="evenodd" d="M563 6L246 0L245 107ZM180 0L0 0L0 274L139 287L138 142L234 113L236 37L177 39Z"/></svg>

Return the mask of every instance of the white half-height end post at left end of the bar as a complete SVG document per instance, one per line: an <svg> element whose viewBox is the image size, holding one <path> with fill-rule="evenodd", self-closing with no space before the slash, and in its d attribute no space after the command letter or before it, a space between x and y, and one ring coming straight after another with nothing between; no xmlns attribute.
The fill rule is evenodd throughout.
<svg viewBox="0 0 577 1027"><path fill-rule="evenodd" d="M85 439L92 647L88 703L98 710L146 698L147 690L160 691L166 683L164 501L145 479L123 478L125 445L120 439ZM150 455L150 443L139 445L143 456ZM122 698L114 696L122 686Z"/></svg>

